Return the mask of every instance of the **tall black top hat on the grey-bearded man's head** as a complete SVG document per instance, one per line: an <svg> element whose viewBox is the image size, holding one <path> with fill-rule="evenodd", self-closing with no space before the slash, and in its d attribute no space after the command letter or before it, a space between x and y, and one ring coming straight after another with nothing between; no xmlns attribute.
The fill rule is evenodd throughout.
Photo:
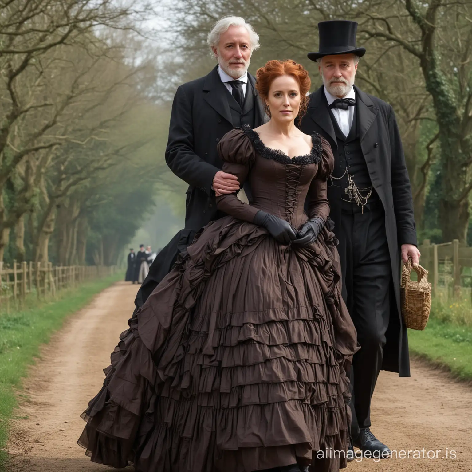
<svg viewBox="0 0 472 472"><path fill-rule="evenodd" d="M323 56L334 54L355 54L362 57L365 48L358 48L355 44L357 23L348 20L321 21L318 23L320 46L318 52L309 52L308 59L316 60Z"/></svg>

